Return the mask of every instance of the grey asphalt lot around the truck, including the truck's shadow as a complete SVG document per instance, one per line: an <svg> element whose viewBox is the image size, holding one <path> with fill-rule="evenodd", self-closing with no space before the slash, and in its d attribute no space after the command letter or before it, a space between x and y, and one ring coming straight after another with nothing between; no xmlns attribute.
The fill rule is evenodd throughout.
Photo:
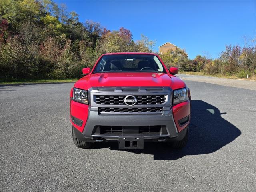
<svg viewBox="0 0 256 192"><path fill-rule="evenodd" d="M72 83L0 86L0 191L255 191L256 91L187 80L186 148L74 146Z"/></svg>

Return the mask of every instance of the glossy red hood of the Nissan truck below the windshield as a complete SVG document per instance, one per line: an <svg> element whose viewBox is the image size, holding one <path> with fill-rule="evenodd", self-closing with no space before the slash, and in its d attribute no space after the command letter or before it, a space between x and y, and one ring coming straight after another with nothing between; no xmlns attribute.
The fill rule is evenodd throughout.
<svg viewBox="0 0 256 192"><path fill-rule="evenodd" d="M78 80L76 88L88 90L91 87L170 87L179 89L186 84L171 74L166 73L95 73Z"/></svg>

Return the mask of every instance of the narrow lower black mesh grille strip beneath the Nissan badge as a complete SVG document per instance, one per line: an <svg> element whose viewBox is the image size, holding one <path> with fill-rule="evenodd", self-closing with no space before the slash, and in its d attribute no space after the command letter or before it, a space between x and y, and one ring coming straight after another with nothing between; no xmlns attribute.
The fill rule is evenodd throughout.
<svg viewBox="0 0 256 192"><path fill-rule="evenodd" d="M99 107L98 111L100 113L161 113L162 109L162 107Z"/></svg>

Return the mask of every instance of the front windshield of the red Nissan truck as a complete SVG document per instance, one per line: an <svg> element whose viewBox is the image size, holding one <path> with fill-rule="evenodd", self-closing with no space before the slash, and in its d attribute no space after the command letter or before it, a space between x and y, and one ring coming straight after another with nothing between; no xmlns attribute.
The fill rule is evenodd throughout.
<svg viewBox="0 0 256 192"><path fill-rule="evenodd" d="M120 54L104 55L96 64L93 73L104 72L164 72L155 55Z"/></svg>

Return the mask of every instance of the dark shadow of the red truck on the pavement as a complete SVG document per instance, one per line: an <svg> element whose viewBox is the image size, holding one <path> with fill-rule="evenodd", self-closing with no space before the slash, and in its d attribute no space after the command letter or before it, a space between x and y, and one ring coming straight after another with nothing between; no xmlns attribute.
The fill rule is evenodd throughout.
<svg viewBox="0 0 256 192"><path fill-rule="evenodd" d="M154 160L176 160L186 155L208 154L229 144L241 135L241 131L221 117L218 108L201 100L192 100L192 118L188 144L174 150L165 143L144 143L143 150L126 150L133 153L154 155ZM100 144L101 147L103 144ZM105 144L104 144L105 145ZM110 150L118 150L117 143L107 144ZM96 144L100 148L98 144Z"/></svg>

